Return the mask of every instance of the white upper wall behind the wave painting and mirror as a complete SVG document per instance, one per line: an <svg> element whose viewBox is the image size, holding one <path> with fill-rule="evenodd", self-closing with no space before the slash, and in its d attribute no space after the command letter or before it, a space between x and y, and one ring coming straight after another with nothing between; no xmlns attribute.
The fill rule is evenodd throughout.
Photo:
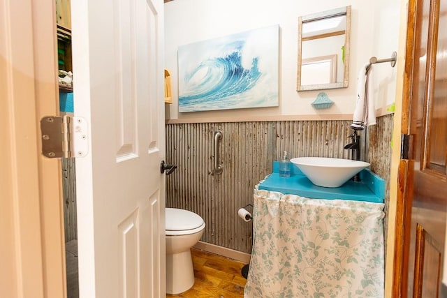
<svg viewBox="0 0 447 298"><path fill-rule="evenodd" d="M356 104L358 70L376 56L385 59L397 50L401 0L175 0L165 4L165 67L170 70L173 104L166 119L349 119ZM349 87L323 90L334 101L330 109L311 103L320 91L296 91L298 17L351 5ZM202 40L279 24L279 107L207 112L178 112L177 49ZM403 54L403 53L402 53ZM374 100L383 111L395 101L396 68L374 66ZM379 112L379 111L378 111Z"/></svg>

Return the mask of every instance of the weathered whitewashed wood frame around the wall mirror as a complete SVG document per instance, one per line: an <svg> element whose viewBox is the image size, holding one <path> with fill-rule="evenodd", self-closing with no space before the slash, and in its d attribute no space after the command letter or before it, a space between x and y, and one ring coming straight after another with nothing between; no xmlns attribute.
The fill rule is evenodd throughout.
<svg viewBox="0 0 447 298"><path fill-rule="evenodd" d="M318 20L328 19L330 17L339 17L346 15L346 29L344 40L344 70L343 70L343 82L335 82L329 84L301 84L302 75L302 24L307 22L314 22ZM342 34L343 32L335 32L335 34ZM314 38L323 38L325 36L316 36ZM297 91L311 91L311 90L323 90L323 89L337 89L346 88L349 85L349 47L351 41L351 6L342 8L335 8L332 10L326 10L321 13L314 13L312 15L305 15L298 17L298 63L297 63Z"/></svg>

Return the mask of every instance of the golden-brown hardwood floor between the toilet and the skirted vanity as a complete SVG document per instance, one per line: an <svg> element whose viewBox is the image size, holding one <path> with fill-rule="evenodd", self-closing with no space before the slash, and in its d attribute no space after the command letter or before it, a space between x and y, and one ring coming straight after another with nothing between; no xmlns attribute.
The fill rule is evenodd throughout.
<svg viewBox="0 0 447 298"><path fill-rule="evenodd" d="M244 263L191 248L194 276L193 288L166 297L237 298L244 297L247 280L240 271Z"/></svg>

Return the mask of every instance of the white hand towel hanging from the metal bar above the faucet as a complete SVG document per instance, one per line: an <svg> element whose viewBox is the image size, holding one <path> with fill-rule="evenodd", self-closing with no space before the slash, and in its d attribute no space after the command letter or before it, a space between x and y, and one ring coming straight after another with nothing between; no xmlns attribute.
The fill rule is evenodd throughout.
<svg viewBox="0 0 447 298"><path fill-rule="evenodd" d="M362 130L363 126L376 124L376 108L372 89L372 67L369 63L360 68L357 78L357 102L351 128Z"/></svg>

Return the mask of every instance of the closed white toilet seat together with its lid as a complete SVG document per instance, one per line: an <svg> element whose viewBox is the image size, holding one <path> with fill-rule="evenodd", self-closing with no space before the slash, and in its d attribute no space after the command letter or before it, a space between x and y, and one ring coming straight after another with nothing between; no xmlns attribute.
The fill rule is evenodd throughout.
<svg viewBox="0 0 447 298"><path fill-rule="evenodd" d="M166 208L166 235L186 235L200 232L205 228L205 222L198 214L194 212Z"/></svg>

